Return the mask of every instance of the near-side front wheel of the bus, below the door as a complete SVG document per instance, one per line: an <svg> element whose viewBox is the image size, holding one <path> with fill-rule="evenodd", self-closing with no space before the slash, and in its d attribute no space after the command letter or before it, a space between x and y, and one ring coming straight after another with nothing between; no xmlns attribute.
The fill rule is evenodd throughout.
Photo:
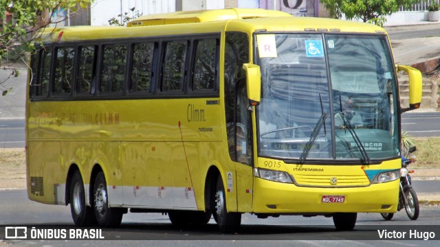
<svg viewBox="0 0 440 247"><path fill-rule="evenodd" d="M241 224L241 213L228 213L226 209L225 187L221 176L217 178L214 194L214 214L217 224L222 233L236 233Z"/></svg>

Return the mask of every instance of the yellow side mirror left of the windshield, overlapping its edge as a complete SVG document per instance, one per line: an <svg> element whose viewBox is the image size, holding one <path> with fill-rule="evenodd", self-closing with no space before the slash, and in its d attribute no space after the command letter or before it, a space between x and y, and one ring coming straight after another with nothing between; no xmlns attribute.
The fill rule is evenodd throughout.
<svg viewBox="0 0 440 247"><path fill-rule="evenodd" d="M256 64L243 64L246 73L246 89L251 106L258 106L261 101L261 71Z"/></svg>

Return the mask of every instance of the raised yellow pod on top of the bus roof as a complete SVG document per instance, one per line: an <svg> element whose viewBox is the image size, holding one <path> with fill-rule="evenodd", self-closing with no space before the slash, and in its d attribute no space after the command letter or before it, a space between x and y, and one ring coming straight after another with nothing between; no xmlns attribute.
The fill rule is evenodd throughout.
<svg viewBox="0 0 440 247"><path fill-rule="evenodd" d="M165 25L177 23L201 23L210 21L228 21L239 19L255 19L264 17L291 16L276 10L228 8L224 10L178 11L166 14L148 14L127 23L127 27L146 25Z"/></svg>

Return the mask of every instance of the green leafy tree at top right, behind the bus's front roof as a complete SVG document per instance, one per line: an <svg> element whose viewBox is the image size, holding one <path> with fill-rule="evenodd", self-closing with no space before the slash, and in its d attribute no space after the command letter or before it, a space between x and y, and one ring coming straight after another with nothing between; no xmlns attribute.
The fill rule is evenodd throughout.
<svg viewBox="0 0 440 247"><path fill-rule="evenodd" d="M399 10L399 6L409 7L419 0L319 0L332 16L347 20L360 19L365 23L383 26L386 17Z"/></svg>

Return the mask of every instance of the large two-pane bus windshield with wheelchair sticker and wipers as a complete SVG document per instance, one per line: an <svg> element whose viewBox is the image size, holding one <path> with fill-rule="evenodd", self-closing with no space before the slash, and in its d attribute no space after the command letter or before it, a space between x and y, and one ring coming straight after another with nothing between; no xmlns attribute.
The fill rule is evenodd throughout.
<svg viewBox="0 0 440 247"><path fill-rule="evenodd" d="M385 35L257 34L259 155L300 161L399 155Z"/></svg>

